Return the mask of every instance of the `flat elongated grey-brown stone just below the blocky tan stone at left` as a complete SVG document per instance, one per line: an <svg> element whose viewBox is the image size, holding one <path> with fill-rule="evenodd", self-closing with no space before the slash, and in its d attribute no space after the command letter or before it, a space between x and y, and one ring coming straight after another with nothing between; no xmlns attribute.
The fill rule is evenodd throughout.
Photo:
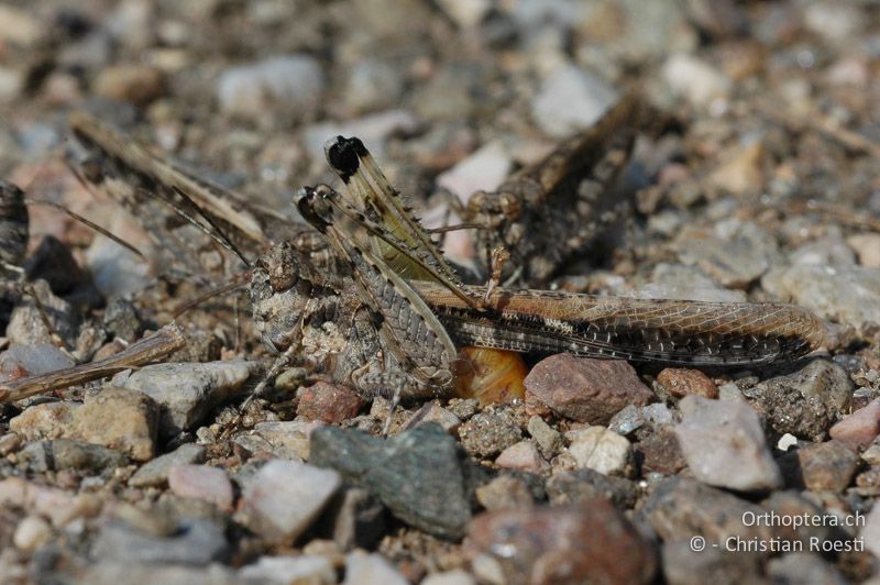
<svg viewBox="0 0 880 585"><path fill-rule="evenodd" d="M36 473L76 470L87 475L110 475L129 463L119 451L70 439L32 441L19 456Z"/></svg>

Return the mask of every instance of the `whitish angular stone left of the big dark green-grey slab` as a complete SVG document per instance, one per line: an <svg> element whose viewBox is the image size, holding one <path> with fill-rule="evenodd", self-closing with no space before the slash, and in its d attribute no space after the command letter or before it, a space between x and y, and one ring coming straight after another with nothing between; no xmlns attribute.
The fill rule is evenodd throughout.
<svg viewBox="0 0 880 585"><path fill-rule="evenodd" d="M289 544L312 525L340 484L332 470L273 460L242 490L237 517L263 539Z"/></svg>

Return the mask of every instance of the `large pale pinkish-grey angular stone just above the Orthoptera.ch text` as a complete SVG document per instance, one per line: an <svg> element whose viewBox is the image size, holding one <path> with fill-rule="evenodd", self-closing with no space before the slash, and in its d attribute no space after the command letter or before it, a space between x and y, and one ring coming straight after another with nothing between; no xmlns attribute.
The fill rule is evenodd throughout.
<svg viewBox="0 0 880 585"><path fill-rule="evenodd" d="M679 406L683 420L675 435L697 479L740 492L782 485L761 421L748 404L688 396Z"/></svg>

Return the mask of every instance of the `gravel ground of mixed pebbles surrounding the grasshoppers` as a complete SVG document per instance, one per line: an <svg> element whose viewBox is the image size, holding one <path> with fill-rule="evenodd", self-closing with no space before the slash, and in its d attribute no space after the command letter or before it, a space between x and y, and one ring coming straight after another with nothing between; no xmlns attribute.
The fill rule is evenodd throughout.
<svg viewBox="0 0 880 585"><path fill-rule="evenodd" d="M168 363L2 405L0 581L880 582L879 70L856 0L0 4L0 178L145 251L65 165L70 111L290 218L354 134L440 223L638 88L637 212L553 286L783 300L832 332L763 371L529 356L524 394L406 405L384 439L387 401L297 371L239 416L268 354L243 297L215 299ZM30 217L55 335L0 297L0 380L118 352L218 284Z"/></svg>

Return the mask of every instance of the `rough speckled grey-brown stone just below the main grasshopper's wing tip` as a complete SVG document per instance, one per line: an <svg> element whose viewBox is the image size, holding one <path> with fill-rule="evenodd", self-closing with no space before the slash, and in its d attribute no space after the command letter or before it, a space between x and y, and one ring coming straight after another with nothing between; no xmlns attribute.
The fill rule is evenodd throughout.
<svg viewBox="0 0 880 585"><path fill-rule="evenodd" d="M761 382L745 395L776 432L821 441L849 408L853 382L839 365L814 360L799 372Z"/></svg>

